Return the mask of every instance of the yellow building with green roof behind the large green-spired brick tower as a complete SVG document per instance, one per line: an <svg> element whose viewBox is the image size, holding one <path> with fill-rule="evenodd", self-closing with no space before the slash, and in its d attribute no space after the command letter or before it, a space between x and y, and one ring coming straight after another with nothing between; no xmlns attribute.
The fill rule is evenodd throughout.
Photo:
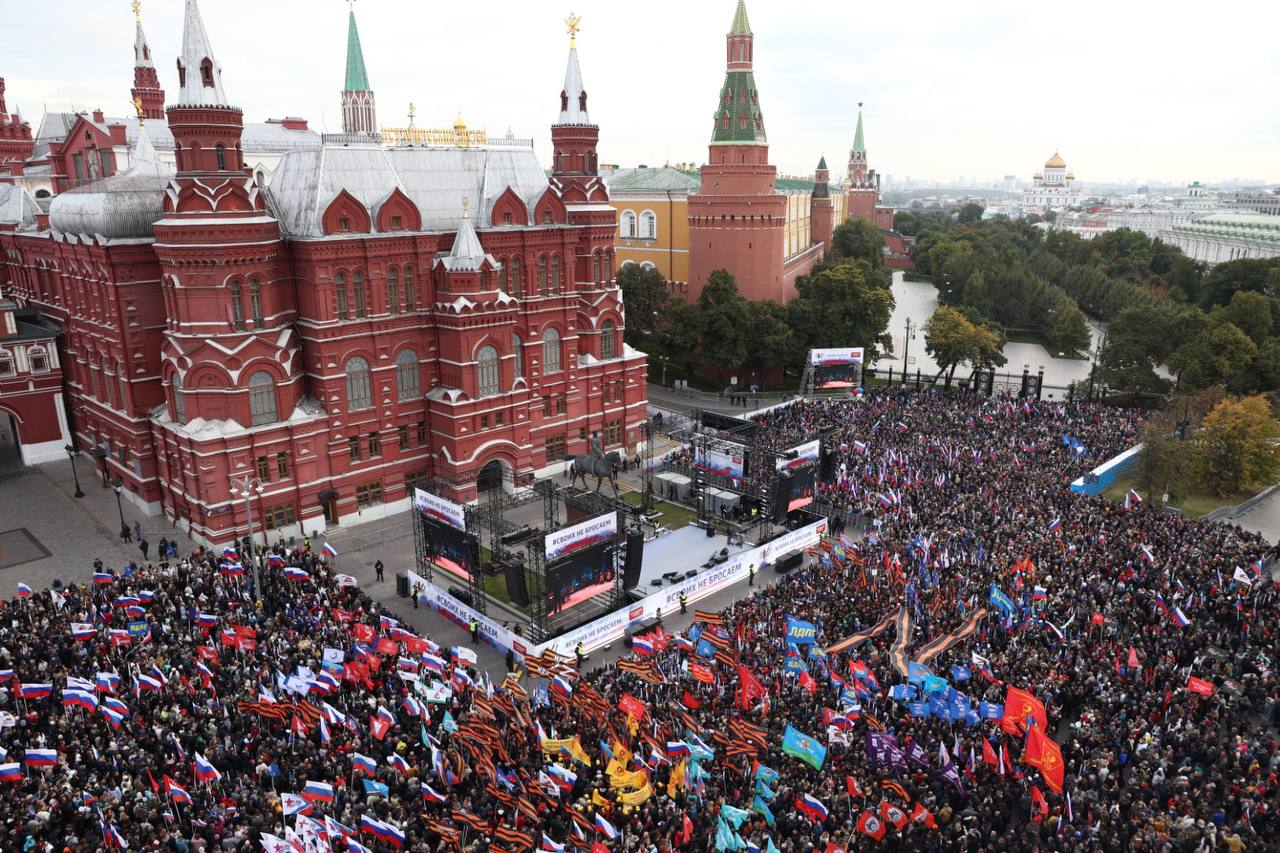
<svg viewBox="0 0 1280 853"><path fill-rule="evenodd" d="M617 169L604 177L609 204L618 211L613 246L618 266L653 268L668 282L689 280L689 193L699 188L696 172L646 168ZM813 245L809 209L813 178L780 177L774 188L787 196L783 257ZM832 222L845 220L845 193L832 188Z"/></svg>

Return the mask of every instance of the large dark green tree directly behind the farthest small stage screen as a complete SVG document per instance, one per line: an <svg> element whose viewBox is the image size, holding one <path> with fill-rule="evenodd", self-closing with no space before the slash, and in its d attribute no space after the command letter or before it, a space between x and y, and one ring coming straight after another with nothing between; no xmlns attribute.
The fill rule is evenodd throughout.
<svg viewBox="0 0 1280 853"><path fill-rule="evenodd" d="M787 304L796 357L812 348L864 347L868 362L890 345L886 333L893 293L879 287L877 270L864 260L837 260L796 286Z"/></svg>

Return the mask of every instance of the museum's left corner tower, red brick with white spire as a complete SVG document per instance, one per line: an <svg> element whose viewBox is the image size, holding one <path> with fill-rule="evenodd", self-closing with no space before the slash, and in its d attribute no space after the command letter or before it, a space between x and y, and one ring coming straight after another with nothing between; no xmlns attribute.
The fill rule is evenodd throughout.
<svg viewBox="0 0 1280 853"><path fill-rule="evenodd" d="M178 83L166 110L178 169L155 223L168 318L161 373L175 443L191 453L182 467L201 471L186 493L207 506L229 500L228 475L247 466L259 428L291 419L303 379L279 223L244 168L242 113L223 93L196 0L187 0ZM197 419L200 429L183 429ZM238 503L210 526L247 530Z"/></svg>

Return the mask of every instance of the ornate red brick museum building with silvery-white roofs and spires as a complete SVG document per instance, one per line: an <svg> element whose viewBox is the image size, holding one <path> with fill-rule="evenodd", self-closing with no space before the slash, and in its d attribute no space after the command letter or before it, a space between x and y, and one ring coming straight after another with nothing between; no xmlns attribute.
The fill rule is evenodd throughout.
<svg viewBox="0 0 1280 853"><path fill-rule="evenodd" d="M641 438L645 356L622 341L576 49L548 177L509 136L384 145L349 27L347 132L269 181L186 0L178 96L140 60L127 168L41 200L0 183L0 291L60 329L72 439L201 542L248 529L232 478L261 480L274 539L383 517L428 482L457 501L524 488L593 433Z"/></svg>

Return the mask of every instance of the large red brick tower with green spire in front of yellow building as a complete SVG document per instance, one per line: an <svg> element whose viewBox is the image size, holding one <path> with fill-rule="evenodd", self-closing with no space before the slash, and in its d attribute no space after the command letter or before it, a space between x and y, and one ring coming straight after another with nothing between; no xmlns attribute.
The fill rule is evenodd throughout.
<svg viewBox="0 0 1280 853"><path fill-rule="evenodd" d="M691 298L717 269L732 273L749 300L785 302L795 296L782 279L787 201L773 188L777 169L769 165L753 51L746 5L739 0L701 188L689 196Z"/></svg>

